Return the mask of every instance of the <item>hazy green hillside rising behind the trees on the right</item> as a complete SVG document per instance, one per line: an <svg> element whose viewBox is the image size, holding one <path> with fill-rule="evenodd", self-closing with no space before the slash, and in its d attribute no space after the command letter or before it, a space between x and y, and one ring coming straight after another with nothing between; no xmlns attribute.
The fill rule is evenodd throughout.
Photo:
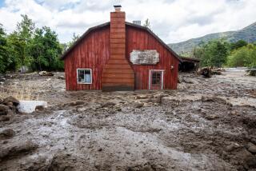
<svg viewBox="0 0 256 171"><path fill-rule="evenodd" d="M169 46L178 54L189 53L195 46L202 42L209 42L217 38L226 38L229 42L237 42L238 40L245 40L246 42L256 42L256 22L250 26L246 26L242 30L227 31L222 33L207 34L201 38L191 38L185 42L171 43Z"/></svg>

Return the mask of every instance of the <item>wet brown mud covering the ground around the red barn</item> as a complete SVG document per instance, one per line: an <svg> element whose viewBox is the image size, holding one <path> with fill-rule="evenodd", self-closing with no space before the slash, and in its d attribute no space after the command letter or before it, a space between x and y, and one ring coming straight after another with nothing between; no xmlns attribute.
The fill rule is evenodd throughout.
<svg viewBox="0 0 256 171"><path fill-rule="evenodd" d="M59 75L6 80L49 107L0 122L0 170L256 170L255 77L180 74L177 90L102 93L66 92Z"/></svg>

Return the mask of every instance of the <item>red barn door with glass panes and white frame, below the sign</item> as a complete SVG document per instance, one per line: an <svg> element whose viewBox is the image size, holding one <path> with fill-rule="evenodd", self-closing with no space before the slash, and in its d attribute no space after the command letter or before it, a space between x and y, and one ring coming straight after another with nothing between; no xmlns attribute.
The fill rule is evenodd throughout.
<svg viewBox="0 0 256 171"><path fill-rule="evenodd" d="M150 70L149 89L162 89L163 70Z"/></svg>

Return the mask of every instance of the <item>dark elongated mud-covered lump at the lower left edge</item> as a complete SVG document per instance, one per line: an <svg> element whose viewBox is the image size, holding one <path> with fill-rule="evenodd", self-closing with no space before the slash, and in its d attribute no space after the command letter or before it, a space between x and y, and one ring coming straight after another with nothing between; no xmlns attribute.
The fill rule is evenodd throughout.
<svg viewBox="0 0 256 171"><path fill-rule="evenodd" d="M0 161L6 160L9 157L25 155L37 148L38 145L34 144L32 141L19 141L16 145L0 146Z"/></svg>

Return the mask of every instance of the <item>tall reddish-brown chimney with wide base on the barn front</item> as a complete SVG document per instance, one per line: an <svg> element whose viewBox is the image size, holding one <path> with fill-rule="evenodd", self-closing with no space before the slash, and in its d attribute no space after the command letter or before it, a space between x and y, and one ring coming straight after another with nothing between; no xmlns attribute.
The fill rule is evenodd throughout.
<svg viewBox="0 0 256 171"><path fill-rule="evenodd" d="M102 71L102 90L134 90L134 70L126 59L126 13L110 13L110 59Z"/></svg>

